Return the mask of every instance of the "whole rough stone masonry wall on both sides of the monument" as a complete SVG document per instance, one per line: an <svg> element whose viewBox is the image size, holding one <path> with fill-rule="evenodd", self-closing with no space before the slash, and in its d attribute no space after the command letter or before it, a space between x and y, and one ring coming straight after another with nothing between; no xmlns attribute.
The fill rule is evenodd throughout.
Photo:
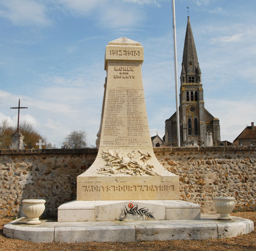
<svg viewBox="0 0 256 251"><path fill-rule="evenodd" d="M179 175L180 199L214 212L212 198L234 196L236 210L256 209L256 147L154 148L159 162ZM0 151L0 217L22 215L22 200L46 199L43 216L76 198L76 177L97 149Z"/></svg>

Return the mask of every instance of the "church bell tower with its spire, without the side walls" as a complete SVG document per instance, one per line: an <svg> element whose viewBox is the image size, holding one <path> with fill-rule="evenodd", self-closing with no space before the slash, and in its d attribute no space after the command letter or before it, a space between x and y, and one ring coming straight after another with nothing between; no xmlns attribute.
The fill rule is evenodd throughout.
<svg viewBox="0 0 256 251"><path fill-rule="evenodd" d="M204 142L204 135L206 134L204 97L201 70L189 16L187 17L180 81L180 125L182 142L197 141L200 144Z"/></svg>

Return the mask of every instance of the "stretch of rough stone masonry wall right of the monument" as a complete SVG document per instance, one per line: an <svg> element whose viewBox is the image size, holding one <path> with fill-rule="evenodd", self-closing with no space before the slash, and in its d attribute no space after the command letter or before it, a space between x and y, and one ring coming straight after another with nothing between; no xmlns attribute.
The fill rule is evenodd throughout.
<svg viewBox="0 0 256 251"><path fill-rule="evenodd" d="M235 197L236 210L256 210L256 147L155 148L155 154L179 175L180 199L202 212L216 212L216 196Z"/></svg>

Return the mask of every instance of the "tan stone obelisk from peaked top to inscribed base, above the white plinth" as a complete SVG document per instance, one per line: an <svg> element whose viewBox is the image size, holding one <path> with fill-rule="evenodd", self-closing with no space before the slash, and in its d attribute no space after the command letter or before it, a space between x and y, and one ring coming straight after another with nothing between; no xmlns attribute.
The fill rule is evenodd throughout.
<svg viewBox="0 0 256 251"><path fill-rule="evenodd" d="M98 155L77 177L77 200L179 199L179 178L155 157L141 65L143 47L122 37L105 51L107 72Z"/></svg>

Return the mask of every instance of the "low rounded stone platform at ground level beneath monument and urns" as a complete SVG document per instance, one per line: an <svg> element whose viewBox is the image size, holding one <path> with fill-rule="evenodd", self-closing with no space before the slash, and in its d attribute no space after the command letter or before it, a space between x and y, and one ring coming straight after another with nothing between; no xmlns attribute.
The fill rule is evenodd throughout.
<svg viewBox="0 0 256 251"><path fill-rule="evenodd" d="M201 214L196 220L87 221L57 222L41 220L27 225L26 217L4 225L4 234L13 239L32 242L136 242L155 240L201 240L230 238L249 234L253 222L232 217L218 220L218 214Z"/></svg>

